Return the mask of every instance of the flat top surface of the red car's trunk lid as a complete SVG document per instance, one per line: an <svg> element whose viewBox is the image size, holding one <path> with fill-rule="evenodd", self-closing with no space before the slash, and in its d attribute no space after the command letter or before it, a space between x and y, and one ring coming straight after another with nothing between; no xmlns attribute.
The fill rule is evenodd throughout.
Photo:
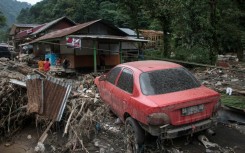
<svg viewBox="0 0 245 153"><path fill-rule="evenodd" d="M156 104L157 107L174 105L179 107L188 107L195 104L210 102L211 99L215 99L216 101L219 98L219 94L214 90L201 86L184 91L147 96L147 98L152 103Z"/></svg>

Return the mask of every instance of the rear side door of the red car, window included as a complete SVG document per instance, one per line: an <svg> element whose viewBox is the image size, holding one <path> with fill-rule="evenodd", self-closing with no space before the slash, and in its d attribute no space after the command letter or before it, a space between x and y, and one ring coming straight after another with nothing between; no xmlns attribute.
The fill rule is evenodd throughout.
<svg viewBox="0 0 245 153"><path fill-rule="evenodd" d="M130 99L134 88L133 71L124 68L120 74L116 87L112 90L112 105L115 112L121 119L123 114L130 108Z"/></svg>

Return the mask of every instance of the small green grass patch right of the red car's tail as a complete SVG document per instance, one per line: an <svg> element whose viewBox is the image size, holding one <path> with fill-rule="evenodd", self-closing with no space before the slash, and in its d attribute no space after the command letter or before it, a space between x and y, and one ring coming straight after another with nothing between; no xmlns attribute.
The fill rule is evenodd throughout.
<svg viewBox="0 0 245 153"><path fill-rule="evenodd" d="M221 95L221 103L238 109L245 109L245 96Z"/></svg>

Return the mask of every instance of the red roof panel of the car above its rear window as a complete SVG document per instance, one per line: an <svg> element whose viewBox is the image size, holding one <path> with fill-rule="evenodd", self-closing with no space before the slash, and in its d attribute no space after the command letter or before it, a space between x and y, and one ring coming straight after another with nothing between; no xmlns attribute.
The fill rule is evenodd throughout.
<svg viewBox="0 0 245 153"><path fill-rule="evenodd" d="M158 60L135 61L135 62L123 63L120 65L133 67L139 69L142 72L182 67L181 65L176 63L158 61Z"/></svg>

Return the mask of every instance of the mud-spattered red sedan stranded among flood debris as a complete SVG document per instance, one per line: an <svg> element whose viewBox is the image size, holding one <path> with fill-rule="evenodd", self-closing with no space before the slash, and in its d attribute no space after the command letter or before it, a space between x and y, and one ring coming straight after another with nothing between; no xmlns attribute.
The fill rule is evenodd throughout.
<svg viewBox="0 0 245 153"><path fill-rule="evenodd" d="M207 130L216 123L220 95L181 65L137 61L95 79L102 100L126 123L137 146L145 131L162 139Z"/></svg>

